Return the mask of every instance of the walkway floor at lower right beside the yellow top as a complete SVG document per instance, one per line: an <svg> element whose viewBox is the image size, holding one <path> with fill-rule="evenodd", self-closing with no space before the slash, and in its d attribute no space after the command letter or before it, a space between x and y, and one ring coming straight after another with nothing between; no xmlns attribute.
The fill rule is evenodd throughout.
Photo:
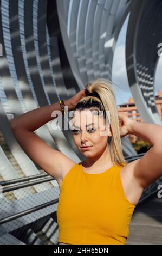
<svg viewBox="0 0 162 256"><path fill-rule="evenodd" d="M131 244L162 245L162 198L157 194L134 209L126 242Z"/></svg>

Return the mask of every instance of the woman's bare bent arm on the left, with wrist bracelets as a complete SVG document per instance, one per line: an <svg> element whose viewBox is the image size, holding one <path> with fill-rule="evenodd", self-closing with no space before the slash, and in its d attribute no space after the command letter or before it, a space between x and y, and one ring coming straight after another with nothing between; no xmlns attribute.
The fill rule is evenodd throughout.
<svg viewBox="0 0 162 256"><path fill-rule="evenodd" d="M72 110L69 100L64 101L64 103L69 111ZM12 119L10 126L17 142L30 159L49 175L59 180L61 178L61 169L63 168L62 164L71 163L73 165L74 162L60 151L50 148L34 132L42 125L56 118L51 117L53 111L58 111L58 116L62 115L59 102L24 113Z"/></svg>

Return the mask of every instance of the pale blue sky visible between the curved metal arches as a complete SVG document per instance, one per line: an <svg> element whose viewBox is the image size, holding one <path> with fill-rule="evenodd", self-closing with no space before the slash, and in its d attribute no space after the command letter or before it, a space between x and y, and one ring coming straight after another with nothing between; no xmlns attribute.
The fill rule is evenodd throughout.
<svg viewBox="0 0 162 256"><path fill-rule="evenodd" d="M128 85L128 78L126 72L126 62L125 62L125 42L126 42L126 30L128 24L129 14L121 28L118 40L116 42L113 67L112 67L112 82L116 84L114 86L114 93L116 96L116 102L118 105L128 102L128 98L132 97L131 90ZM162 90L161 85L161 70L162 70L162 56L159 58L157 71L155 73L155 95L157 95L158 90Z"/></svg>

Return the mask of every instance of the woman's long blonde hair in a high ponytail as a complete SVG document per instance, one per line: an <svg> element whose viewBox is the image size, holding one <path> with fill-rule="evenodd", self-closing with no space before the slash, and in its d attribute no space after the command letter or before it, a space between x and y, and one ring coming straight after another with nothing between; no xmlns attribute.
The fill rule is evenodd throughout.
<svg viewBox="0 0 162 256"><path fill-rule="evenodd" d="M109 137L111 139L108 145L111 160L115 166L125 166L127 162L122 153L118 107L111 82L105 78L99 78L86 84L85 88L86 96L75 105L74 110L98 109L109 111L112 136Z"/></svg>

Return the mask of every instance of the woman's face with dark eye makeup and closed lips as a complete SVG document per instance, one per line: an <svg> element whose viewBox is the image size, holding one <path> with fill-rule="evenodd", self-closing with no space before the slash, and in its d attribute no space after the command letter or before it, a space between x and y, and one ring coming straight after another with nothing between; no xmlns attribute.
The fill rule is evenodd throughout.
<svg viewBox="0 0 162 256"><path fill-rule="evenodd" d="M93 124L92 124L93 123ZM76 110L70 121L74 142L86 157L97 156L107 147L108 137L111 136L109 124L96 112ZM83 146L90 146L83 149Z"/></svg>

